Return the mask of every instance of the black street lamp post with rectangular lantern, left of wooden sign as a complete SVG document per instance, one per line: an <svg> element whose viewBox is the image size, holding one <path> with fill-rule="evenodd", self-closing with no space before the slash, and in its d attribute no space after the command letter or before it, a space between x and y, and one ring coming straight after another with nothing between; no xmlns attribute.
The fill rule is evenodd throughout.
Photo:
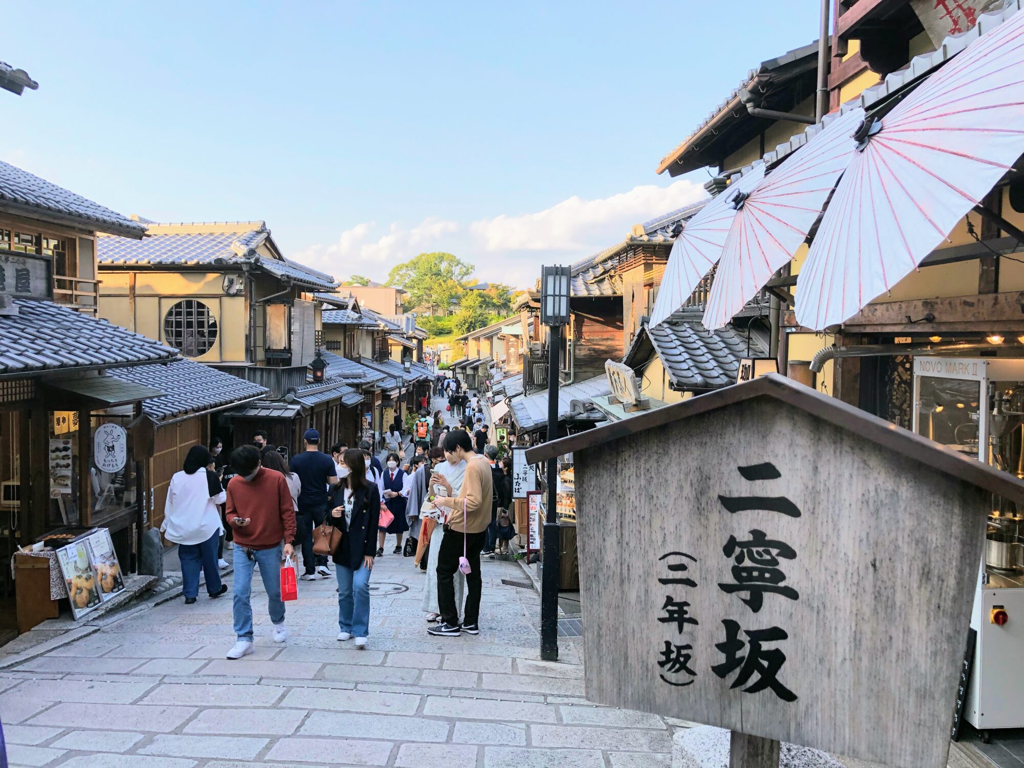
<svg viewBox="0 0 1024 768"><path fill-rule="evenodd" d="M548 439L558 437L558 371L562 326L569 322L569 267L543 267L541 278L541 323L548 335ZM558 658L558 458L548 460L548 509L544 521L544 552L541 570L541 658Z"/></svg>

